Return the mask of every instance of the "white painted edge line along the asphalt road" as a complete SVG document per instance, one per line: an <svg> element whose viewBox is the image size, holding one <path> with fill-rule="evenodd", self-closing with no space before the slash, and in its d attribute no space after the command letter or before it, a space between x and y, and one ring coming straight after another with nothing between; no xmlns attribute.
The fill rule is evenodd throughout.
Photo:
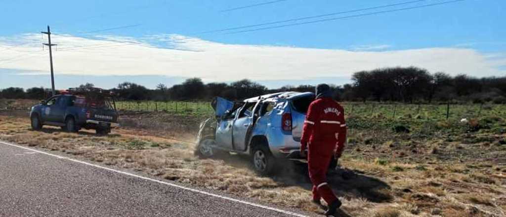
<svg viewBox="0 0 506 217"><path fill-rule="evenodd" d="M35 152L41 153L41 154L46 154L46 155L54 156L54 157L57 157L57 158L60 158L60 159L67 159L67 160L70 160L70 161L78 162L80 164L84 164L84 165L88 165L88 166L92 166L92 167L96 167L96 168L112 171L112 172L115 172L115 173L120 173L120 174L127 175L127 176L133 176L133 177L136 177L136 178L139 178L139 179L144 179L144 180L148 180L148 181L152 181L152 182L157 182L157 183L160 183L160 184L163 184L163 185L168 185L168 186L180 188L180 189L191 191L191 192L196 192L196 193L204 194L204 195L207 195L207 196L217 197L217 198L221 198L221 199L225 199L225 200L230 200L230 201L233 201L233 202L238 202L238 203L242 203L242 204L246 204L246 205L250 205L250 206L255 206L255 207L258 207L258 208L268 209L268 210L271 210L271 211L276 211L276 212L280 212L280 213L287 214L287 215L293 215L293 216L298 216L298 217L309 217L307 215L303 215L303 214L299 214L299 213L295 213L295 212L290 212L290 211L286 211L286 210L283 210L283 209L278 209L278 208L274 208L274 207L270 207L270 206L264 206L264 205L260 205L260 204L256 204L256 203L252 203L252 202L248 202L248 201L244 201L244 200L234 199L234 198L231 198L231 197L226 197L226 196L222 196L222 195L218 195L218 194L213 194L213 193L209 193L209 192L205 192L205 191L201 191L201 190L197 190L197 189L193 189L193 188L188 188L188 187L176 185L174 183L163 182L163 181L160 181L160 180L151 179L151 178L144 177L144 176L139 176L139 175L135 175L135 174L119 171L119 170L114 170L114 169L111 169L111 168L106 168L106 167L102 167L102 166L99 166L99 165L90 164L89 162L85 162L85 161L81 161L81 160L76 160L76 159L72 159L70 157L64 157L64 156L60 156L60 155L57 155L57 154L52 154L52 153L48 153L48 152L44 152L44 151L39 151L39 150L36 150L36 149L27 148L27 147L20 146L20 145L15 145L15 144L3 142L3 141L0 141L0 143L6 144L6 145L10 145L10 146L13 146L13 147L23 148L23 149L30 150L30 151L35 151Z"/></svg>

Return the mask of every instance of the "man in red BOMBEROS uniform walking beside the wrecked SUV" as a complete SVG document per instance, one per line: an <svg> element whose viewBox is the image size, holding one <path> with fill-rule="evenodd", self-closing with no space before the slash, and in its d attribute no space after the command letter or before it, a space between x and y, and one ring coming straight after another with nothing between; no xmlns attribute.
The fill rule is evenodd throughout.
<svg viewBox="0 0 506 217"><path fill-rule="evenodd" d="M313 202L320 204L323 197L328 204L326 215L331 215L341 206L327 184L327 170L333 157L341 157L346 140L344 109L331 98L330 87L319 84L316 100L308 108L301 138L301 155L308 148L309 178L313 183Z"/></svg>

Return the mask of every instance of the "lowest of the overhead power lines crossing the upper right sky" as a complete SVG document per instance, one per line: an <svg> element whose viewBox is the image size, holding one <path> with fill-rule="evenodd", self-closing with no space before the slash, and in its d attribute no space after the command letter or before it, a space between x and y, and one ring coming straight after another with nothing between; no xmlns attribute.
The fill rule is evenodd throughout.
<svg viewBox="0 0 506 217"><path fill-rule="evenodd" d="M252 32L252 31L260 31L260 30L267 30L267 29L276 29L276 28L282 28L282 27L288 27L288 26L300 26L300 25L305 25L305 24L321 23L321 22L332 21L332 20L343 20L343 19L347 19L347 18L363 17L363 16L376 15L376 14L386 14L386 13L390 13L390 12L405 11L405 10L411 10L411 9L417 9L417 8L426 8L426 7L436 6L436 5L444 5L444 4L456 3L456 2L462 2L462 1L466 1L466 0L455 0L455 1L434 3L434 4L428 4L428 5L420 5L420 6L408 7L408 8L393 9L393 10L387 10L387 11L378 11L378 12L358 14L358 15L350 15L350 16L346 16L346 17L336 17L336 18L308 21L308 22L302 22L302 23L293 23L293 24L286 24L286 25L279 25L279 26L257 28L257 29L248 29L248 30L235 31L235 32L230 32L230 33L225 33L225 34L236 34L236 33L242 33L242 32Z"/></svg>

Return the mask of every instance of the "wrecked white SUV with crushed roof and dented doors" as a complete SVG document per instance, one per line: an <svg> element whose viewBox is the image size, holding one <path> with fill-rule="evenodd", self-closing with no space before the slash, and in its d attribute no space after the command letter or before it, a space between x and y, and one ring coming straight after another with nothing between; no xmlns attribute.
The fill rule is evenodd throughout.
<svg viewBox="0 0 506 217"><path fill-rule="evenodd" d="M217 97L216 118L200 125L196 154L212 157L217 151L251 157L260 174L273 172L279 159L305 161L300 141L311 92L280 92L232 102Z"/></svg>

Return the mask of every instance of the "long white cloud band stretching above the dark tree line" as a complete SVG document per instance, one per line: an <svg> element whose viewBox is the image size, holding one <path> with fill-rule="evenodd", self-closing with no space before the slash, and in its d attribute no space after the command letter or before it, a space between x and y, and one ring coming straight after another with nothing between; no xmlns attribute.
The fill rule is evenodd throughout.
<svg viewBox="0 0 506 217"><path fill-rule="evenodd" d="M0 38L0 68L49 73L48 52L39 45L42 41L39 34L23 34L15 40ZM487 53L469 48L350 51L224 44L168 34L142 38L103 35L92 39L53 35L52 41L59 44L53 53L55 71L71 75L166 75L201 77L206 82L243 78L304 80L349 77L360 70L395 66L416 66L452 75L506 74L500 70L506 58L489 58Z"/></svg>

